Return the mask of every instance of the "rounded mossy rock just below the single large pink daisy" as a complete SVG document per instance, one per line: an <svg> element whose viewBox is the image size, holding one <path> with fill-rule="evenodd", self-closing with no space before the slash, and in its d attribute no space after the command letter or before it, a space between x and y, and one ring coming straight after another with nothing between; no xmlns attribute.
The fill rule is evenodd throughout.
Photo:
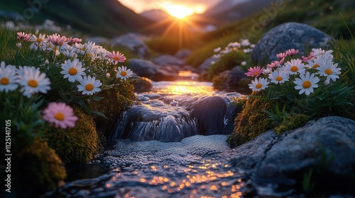
<svg viewBox="0 0 355 198"><path fill-rule="evenodd" d="M73 107L78 120L75 127L50 128L48 145L64 163L87 163L99 152L98 135L92 116L84 114L80 107Z"/></svg>

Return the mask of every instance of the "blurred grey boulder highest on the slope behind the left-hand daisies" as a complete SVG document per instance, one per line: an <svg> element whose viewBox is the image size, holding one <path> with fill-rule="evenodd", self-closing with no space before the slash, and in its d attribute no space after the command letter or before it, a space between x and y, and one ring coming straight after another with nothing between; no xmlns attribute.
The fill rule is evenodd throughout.
<svg viewBox="0 0 355 198"><path fill-rule="evenodd" d="M114 38L111 43L116 47L126 47L126 49L143 58L149 55L148 47L144 41L143 35L128 33Z"/></svg>

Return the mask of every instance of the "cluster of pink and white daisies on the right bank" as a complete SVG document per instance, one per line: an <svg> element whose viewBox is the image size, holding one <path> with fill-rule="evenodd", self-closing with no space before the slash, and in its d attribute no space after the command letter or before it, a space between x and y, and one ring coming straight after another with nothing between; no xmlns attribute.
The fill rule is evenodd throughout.
<svg viewBox="0 0 355 198"><path fill-rule="evenodd" d="M252 91L261 91L268 88L269 83L283 84L293 81L294 87L299 94L310 95L318 88L322 80L324 86L330 81L336 81L339 78L340 68L334 64L332 50L324 51L322 49L312 49L308 57L302 59L290 59L285 62L285 58L292 57L298 53L298 50L287 50L285 53L277 54L280 60L268 64L266 68L256 66L249 69L247 76L256 77L249 84ZM265 75L266 78L259 75Z"/></svg>

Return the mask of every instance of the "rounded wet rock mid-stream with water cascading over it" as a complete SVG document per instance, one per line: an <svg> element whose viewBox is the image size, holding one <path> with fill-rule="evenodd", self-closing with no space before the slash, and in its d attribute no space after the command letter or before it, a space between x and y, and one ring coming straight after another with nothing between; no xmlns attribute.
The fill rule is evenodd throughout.
<svg viewBox="0 0 355 198"><path fill-rule="evenodd" d="M185 109L151 100L124 112L111 139L181 141L196 134L195 121Z"/></svg>

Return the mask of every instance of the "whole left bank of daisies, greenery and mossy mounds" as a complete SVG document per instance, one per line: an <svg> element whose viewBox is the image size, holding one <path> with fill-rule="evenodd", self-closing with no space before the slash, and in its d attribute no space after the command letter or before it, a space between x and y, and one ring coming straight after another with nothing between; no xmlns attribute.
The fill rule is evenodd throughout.
<svg viewBox="0 0 355 198"><path fill-rule="evenodd" d="M13 189L21 196L58 187L65 164L91 161L107 123L135 96L121 52L64 35L12 33L0 33L1 119L11 120Z"/></svg>

